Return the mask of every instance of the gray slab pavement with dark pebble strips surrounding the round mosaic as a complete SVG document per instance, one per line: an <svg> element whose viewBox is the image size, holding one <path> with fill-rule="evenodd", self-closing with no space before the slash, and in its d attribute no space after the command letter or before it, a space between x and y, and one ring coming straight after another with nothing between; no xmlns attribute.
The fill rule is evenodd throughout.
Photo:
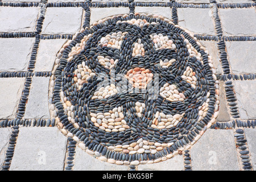
<svg viewBox="0 0 256 182"><path fill-rule="evenodd" d="M256 170L255 7L252 0L0 0L1 169ZM76 32L135 13L171 19L208 50L220 83L219 115L207 131L197 126L205 134L171 159L118 165L96 159L79 136L63 135L51 110L51 80L61 47Z"/></svg>

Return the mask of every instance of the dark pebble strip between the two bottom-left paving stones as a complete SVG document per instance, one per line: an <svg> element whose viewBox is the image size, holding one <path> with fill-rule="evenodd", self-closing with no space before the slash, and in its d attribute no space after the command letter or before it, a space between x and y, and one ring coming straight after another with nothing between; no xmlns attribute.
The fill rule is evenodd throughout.
<svg viewBox="0 0 256 182"><path fill-rule="evenodd" d="M19 127L15 126L15 127L13 127L12 130L13 131L11 133L9 145L8 145L7 151L5 153L5 162L3 163L2 171L9 171L10 166L11 166L11 160L13 159L13 155L14 155L16 139L18 138L18 134L19 134Z"/></svg>

